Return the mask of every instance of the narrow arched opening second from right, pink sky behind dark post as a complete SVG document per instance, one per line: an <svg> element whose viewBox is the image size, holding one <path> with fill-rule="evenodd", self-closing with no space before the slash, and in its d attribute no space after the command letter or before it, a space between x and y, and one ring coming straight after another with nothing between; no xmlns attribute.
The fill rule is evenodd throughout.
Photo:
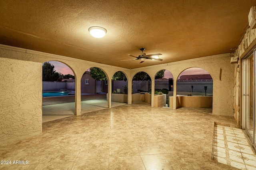
<svg viewBox="0 0 256 170"><path fill-rule="evenodd" d="M166 94L165 104L170 107L169 96L173 96L173 75L169 70L160 70L155 75L155 94L159 92Z"/></svg>

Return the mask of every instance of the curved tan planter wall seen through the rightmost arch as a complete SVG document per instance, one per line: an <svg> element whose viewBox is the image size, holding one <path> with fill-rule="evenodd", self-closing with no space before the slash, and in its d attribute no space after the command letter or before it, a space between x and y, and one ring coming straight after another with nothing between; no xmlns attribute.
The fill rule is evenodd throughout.
<svg viewBox="0 0 256 170"><path fill-rule="evenodd" d="M169 96L169 106L173 107L173 96ZM176 96L176 107L209 108L212 96Z"/></svg>

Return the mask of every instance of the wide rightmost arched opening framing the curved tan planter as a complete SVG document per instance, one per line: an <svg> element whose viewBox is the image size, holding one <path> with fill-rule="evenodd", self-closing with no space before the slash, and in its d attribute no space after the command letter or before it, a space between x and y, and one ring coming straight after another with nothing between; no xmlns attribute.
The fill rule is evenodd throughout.
<svg viewBox="0 0 256 170"><path fill-rule="evenodd" d="M212 76L198 67L184 70L177 79L176 96L176 107L212 108Z"/></svg>

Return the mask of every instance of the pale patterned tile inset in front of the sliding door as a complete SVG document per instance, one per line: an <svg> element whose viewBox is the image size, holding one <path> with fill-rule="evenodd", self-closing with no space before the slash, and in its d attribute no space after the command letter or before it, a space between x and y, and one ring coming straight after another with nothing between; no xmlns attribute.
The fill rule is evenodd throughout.
<svg viewBox="0 0 256 170"><path fill-rule="evenodd" d="M242 170L256 170L256 155L242 129L215 125L214 160Z"/></svg>

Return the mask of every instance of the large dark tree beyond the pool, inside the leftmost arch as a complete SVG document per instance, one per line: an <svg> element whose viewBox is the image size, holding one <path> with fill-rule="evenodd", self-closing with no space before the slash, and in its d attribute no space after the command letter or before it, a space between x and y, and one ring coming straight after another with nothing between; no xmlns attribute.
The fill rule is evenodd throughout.
<svg viewBox="0 0 256 170"><path fill-rule="evenodd" d="M42 65L42 70L43 81L54 82L60 77L60 73L56 72L56 70L54 70L54 65L50 64L49 62L45 62Z"/></svg>

